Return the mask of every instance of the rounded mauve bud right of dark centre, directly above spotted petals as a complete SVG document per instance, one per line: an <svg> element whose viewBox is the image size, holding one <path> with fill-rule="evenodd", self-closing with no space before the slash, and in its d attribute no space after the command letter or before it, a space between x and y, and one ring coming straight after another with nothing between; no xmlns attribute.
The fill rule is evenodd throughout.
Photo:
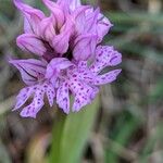
<svg viewBox="0 0 163 163"><path fill-rule="evenodd" d="M97 35L82 35L75 40L73 55L76 61L86 61L95 53Z"/></svg>

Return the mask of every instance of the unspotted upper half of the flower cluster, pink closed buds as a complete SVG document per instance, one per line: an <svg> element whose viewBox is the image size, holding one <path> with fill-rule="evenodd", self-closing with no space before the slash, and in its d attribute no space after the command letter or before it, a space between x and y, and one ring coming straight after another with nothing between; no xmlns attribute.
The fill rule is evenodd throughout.
<svg viewBox="0 0 163 163"><path fill-rule="evenodd" d="M79 0L42 2L50 10L49 16L21 0L14 0L24 15L24 34L17 37L17 46L46 60L63 57L68 49L76 60L80 60L84 46L82 59L87 60L95 53L95 45L102 40L112 26L99 9L95 11L89 5L82 5Z"/></svg>

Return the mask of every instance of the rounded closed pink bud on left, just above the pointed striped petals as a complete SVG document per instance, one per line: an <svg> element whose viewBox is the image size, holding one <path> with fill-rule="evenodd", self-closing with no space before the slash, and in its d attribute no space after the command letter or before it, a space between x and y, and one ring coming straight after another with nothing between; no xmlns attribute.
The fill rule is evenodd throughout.
<svg viewBox="0 0 163 163"><path fill-rule="evenodd" d="M23 34L18 36L16 42L22 50L30 51L37 55L43 55L47 51L43 42L33 34Z"/></svg>

